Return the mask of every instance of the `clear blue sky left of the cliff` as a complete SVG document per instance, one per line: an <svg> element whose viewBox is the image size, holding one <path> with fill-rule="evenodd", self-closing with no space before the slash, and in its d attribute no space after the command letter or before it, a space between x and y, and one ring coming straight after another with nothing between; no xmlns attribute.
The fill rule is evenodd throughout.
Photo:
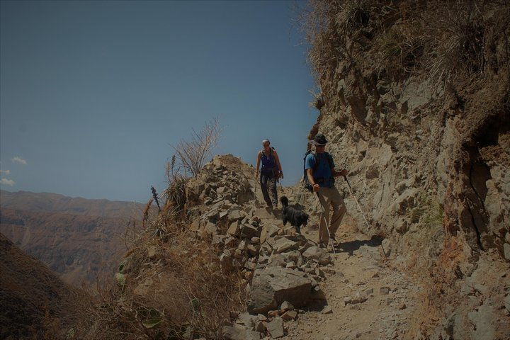
<svg viewBox="0 0 510 340"><path fill-rule="evenodd" d="M145 203L171 145L218 118L214 154L284 186L318 112L302 1L0 1L0 178L8 191Z"/></svg>

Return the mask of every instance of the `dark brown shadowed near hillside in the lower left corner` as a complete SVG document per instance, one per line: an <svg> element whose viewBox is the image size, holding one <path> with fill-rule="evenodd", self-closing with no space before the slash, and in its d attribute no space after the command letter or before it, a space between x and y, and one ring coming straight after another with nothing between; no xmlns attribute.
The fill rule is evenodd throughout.
<svg viewBox="0 0 510 340"><path fill-rule="evenodd" d="M61 339L60 327L70 327L83 300L0 234L0 339Z"/></svg>

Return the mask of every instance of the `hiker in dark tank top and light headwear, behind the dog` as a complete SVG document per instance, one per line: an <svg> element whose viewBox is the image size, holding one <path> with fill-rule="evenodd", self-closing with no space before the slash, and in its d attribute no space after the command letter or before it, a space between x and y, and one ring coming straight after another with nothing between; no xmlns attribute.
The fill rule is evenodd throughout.
<svg viewBox="0 0 510 340"><path fill-rule="evenodd" d="M259 166L262 162L262 169L260 174L261 190L264 200L268 208L273 209L278 207L278 193L276 192L276 182L278 179L283 179L283 172L281 171L280 159L273 147L270 147L269 140L262 141L261 151L257 154L257 165L255 168L255 176L259 176ZM271 191L271 198L269 198L268 191Z"/></svg>

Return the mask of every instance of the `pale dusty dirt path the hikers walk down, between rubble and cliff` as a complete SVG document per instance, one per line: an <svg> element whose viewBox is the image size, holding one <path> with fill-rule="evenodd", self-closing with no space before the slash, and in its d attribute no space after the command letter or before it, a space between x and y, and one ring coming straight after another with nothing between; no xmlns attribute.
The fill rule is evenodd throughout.
<svg viewBox="0 0 510 340"><path fill-rule="evenodd" d="M264 222L282 225L262 210L257 212ZM287 335L280 339L404 339L422 288L394 266L392 256L384 259L380 239L361 234L355 223L344 218L336 233L336 254L329 248L333 263L322 268L327 305L300 310L296 320L285 322ZM316 216L302 234L318 241Z"/></svg>

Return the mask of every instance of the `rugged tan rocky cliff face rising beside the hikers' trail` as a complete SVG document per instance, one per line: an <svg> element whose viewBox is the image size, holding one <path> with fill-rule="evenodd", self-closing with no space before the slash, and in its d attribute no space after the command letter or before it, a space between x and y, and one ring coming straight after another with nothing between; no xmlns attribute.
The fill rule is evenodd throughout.
<svg viewBox="0 0 510 340"><path fill-rule="evenodd" d="M509 290L499 287L510 261L509 12L466 1L453 18L436 1L382 3L312 1L309 57L321 93L309 138L327 135L336 165L351 172L371 220L349 200L358 226L391 239L403 268L429 269L430 319L455 313L450 326L429 319L412 336L479 339L462 320L476 329L479 308L497 318ZM433 45L441 28L434 41L443 45ZM473 278L490 268L496 282ZM479 283L492 293L469 302Z"/></svg>

